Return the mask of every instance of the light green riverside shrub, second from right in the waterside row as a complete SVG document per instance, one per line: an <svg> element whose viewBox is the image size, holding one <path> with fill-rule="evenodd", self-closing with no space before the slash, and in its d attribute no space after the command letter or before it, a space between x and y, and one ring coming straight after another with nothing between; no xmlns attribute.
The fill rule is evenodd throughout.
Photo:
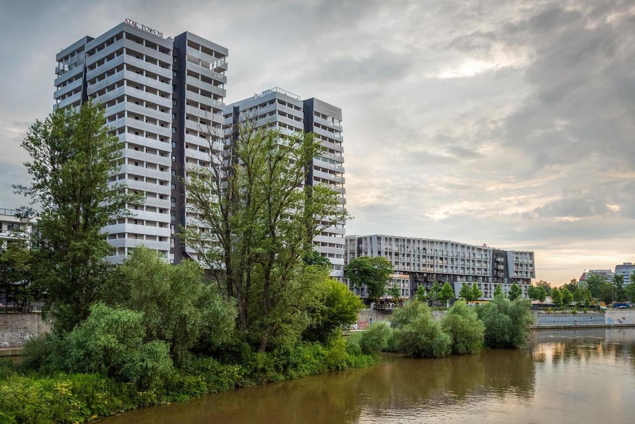
<svg viewBox="0 0 635 424"><path fill-rule="evenodd" d="M453 354L473 354L483 347L485 326L464 301L457 301L441 321L443 331L452 339Z"/></svg>

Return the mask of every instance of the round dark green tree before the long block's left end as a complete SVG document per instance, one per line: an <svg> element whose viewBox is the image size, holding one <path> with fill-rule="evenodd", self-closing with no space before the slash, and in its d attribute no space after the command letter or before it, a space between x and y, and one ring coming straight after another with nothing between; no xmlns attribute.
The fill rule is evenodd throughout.
<svg viewBox="0 0 635 424"><path fill-rule="evenodd" d="M346 277L355 287L366 286L368 297L376 300L386 293L392 263L382 256L360 256L346 265Z"/></svg>

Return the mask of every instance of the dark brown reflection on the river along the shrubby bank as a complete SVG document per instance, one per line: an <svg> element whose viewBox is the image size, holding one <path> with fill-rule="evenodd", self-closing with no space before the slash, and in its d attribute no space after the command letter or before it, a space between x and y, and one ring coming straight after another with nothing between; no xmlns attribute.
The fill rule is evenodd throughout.
<svg viewBox="0 0 635 424"><path fill-rule="evenodd" d="M388 358L366 369L300 378L196 401L134 411L106 420L115 423L351 422L363 410L455 402L482 395L531 397L534 369L528 350L484 350L439 359Z"/></svg>

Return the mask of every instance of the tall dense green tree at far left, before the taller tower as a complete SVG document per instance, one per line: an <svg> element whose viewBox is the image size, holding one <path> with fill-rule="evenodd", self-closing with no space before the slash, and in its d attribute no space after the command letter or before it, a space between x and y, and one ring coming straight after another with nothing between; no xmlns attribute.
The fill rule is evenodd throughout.
<svg viewBox="0 0 635 424"><path fill-rule="evenodd" d="M102 228L132 216L126 204L132 208L142 199L109 182L121 163L121 143L104 124L104 109L88 102L36 121L22 142L31 157L25 166L32 183L13 187L39 208L32 233L34 279L46 291L45 308L56 331L70 331L88 316L110 268Z"/></svg>

